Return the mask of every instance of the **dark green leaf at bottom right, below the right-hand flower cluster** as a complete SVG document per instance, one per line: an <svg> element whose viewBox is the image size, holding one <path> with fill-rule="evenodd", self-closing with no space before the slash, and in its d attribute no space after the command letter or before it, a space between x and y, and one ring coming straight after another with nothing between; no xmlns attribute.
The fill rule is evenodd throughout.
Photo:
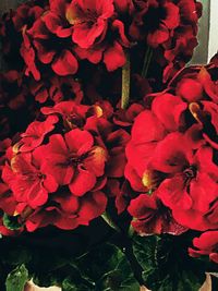
<svg viewBox="0 0 218 291"><path fill-rule="evenodd" d="M148 289L197 291L202 286L205 267L187 255L185 235L134 237L133 251L144 269L143 279Z"/></svg>

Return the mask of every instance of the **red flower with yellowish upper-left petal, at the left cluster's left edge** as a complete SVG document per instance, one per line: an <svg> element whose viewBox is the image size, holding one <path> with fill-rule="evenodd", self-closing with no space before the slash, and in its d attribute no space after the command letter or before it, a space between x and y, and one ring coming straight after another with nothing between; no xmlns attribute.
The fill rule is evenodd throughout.
<svg viewBox="0 0 218 291"><path fill-rule="evenodd" d="M2 179L13 192L15 201L20 204L36 208L45 204L48 194L56 192L58 184L44 168L43 160L35 153L19 154L11 160L11 168L5 166Z"/></svg>

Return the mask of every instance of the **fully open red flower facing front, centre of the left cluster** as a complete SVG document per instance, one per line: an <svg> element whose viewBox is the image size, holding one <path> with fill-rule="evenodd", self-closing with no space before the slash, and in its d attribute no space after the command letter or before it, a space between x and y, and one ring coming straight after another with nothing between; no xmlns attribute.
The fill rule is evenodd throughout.
<svg viewBox="0 0 218 291"><path fill-rule="evenodd" d="M64 134L53 134L46 146L37 148L40 159L46 155L46 172L59 185L69 185L75 196L83 196L94 189L97 178L104 174L106 150L94 145L87 131L78 129Z"/></svg>

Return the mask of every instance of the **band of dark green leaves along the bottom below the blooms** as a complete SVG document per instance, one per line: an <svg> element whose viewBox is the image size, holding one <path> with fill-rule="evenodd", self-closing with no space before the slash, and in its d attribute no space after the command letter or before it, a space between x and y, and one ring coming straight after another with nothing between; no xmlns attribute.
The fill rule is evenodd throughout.
<svg viewBox="0 0 218 291"><path fill-rule="evenodd" d="M0 240L0 290L20 291L25 281L33 278L36 284L56 284L63 291L138 291L136 266L129 252L132 246L132 255L142 267L137 271L153 291L197 291L205 280L205 270L216 271L208 260L189 257L186 246L192 233L179 238L134 234L129 239L129 251L120 243L126 240L122 234L116 234L114 240L111 238L111 243L104 239L86 248L82 245L83 237L72 235L73 240L66 237L64 248L61 241L55 247L61 234L57 241L49 237L52 238L50 245L46 245L45 237L36 244L33 238L39 239L38 235ZM76 248L76 241L81 242L81 250ZM13 289L14 284L20 289Z"/></svg>

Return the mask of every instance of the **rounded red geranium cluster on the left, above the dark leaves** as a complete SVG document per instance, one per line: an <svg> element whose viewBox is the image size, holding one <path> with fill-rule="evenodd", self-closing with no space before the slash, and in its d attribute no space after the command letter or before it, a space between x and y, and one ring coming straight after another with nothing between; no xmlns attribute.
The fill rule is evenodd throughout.
<svg viewBox="0 0 218 291"><path fill-rule="evenodd" d="M28 231L88 225L106 209L107 179L123 177L129 134L108 121L107 102L63 101L41 112L3 155L0 208Z"/></svg>

